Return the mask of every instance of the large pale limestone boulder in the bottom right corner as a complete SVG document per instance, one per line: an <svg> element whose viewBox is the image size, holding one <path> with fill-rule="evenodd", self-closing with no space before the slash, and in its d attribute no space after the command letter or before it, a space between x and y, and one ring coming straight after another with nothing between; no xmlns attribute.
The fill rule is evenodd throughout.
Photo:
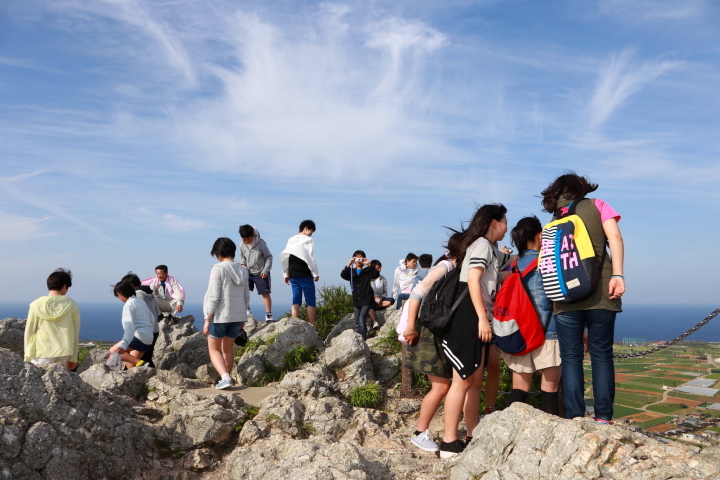
<svg viewBox="0 0 720 480"><path fill-rule="evenodd" d="M450 480L716 479L720 465L708 459L694 447L515 403L485 417L448 466Z"/></svg>

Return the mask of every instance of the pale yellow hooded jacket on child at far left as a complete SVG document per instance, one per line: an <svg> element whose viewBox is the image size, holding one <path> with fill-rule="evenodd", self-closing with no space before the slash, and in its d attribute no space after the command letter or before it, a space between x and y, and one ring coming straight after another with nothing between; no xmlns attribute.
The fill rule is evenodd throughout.
<svg viewBox="0 0 720 480"><path fill-rule="evenodd" d="M25 361L70 355L77 362L80 310L64 295L40 297L30 304L25 325Z"/></svg>

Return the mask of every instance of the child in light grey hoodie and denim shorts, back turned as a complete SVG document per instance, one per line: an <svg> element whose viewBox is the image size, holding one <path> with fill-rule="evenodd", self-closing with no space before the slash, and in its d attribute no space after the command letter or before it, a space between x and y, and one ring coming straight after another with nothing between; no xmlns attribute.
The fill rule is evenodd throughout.
<svg viewBox="0 0 720 480"><path fill-rule="evenodd" d="M235 242L227 237L215 240L210 255L220 263L210 270L210 282L203 300L203 333L208 336L210 361L220 374L220 381L215 385L219 390L232 387L233 345L247 322L250 303L249 274L245 267L235 262L236 248Z"/></svg>

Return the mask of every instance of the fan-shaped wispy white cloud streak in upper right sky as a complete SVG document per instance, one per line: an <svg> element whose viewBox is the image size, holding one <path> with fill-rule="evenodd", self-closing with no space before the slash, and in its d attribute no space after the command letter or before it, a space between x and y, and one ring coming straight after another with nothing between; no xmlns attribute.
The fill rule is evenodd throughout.
<svg viewBox="0 0 720 480"><path fill-rule="evenodd" d="M603 68L587 107L591 129L605 123L616 109L646 84L682 65L682 62L674 61L634 63L634 56L634 50L625 49L612 55Z"/></svg>

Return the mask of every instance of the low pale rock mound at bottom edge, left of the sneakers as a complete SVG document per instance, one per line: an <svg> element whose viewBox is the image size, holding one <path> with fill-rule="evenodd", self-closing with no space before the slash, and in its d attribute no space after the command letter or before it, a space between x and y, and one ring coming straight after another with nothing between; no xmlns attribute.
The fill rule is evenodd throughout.
<svg viewBox="0 0 720 480"><path fill-rule="evenodd" d="M280 473L281 472L281 473ZM396 477L380 462L369 461L351 444L329 435L308 440L270 438L237 448L228 457L223 480L390 480Z"/></svg>

